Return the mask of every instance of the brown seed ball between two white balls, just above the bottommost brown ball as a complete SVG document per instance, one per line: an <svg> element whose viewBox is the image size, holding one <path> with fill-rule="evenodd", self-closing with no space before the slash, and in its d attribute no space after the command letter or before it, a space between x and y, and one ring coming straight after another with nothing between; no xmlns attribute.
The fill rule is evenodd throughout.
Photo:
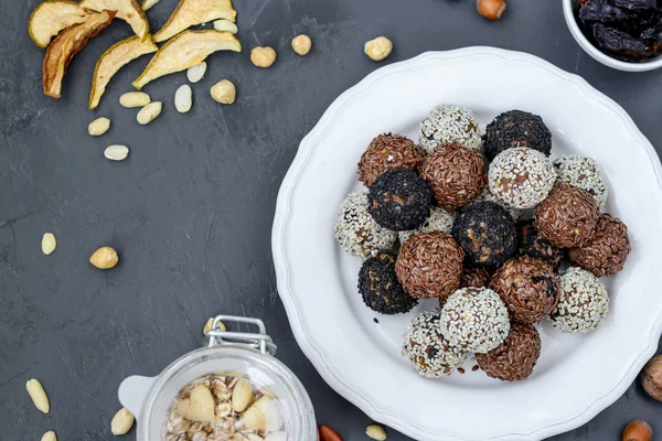
<svg viewBox="0 0 662 441"><path fill-rule="evenodd" d="M503 263L492 276L490 287L519 323L540 322L554 311L558 300L558 280L552 266L528 256Z"/></svg>

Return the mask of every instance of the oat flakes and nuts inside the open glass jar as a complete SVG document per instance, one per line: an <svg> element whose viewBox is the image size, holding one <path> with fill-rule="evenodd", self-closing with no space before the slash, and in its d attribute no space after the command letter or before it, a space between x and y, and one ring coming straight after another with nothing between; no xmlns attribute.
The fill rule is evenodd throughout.
<svg viewBox="0 0 662 441"><path fill-rule="evenodd" d="M243 374L217 373L184 386L170 406L166 441L285 441L278 398Z"/></svg>

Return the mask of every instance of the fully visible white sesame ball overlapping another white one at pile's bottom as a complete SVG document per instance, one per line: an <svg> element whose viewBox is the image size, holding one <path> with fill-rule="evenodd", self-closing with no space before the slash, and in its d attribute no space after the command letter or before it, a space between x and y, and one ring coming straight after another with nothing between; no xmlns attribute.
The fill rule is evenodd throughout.
<svg viewBox="0 0 662 441"><path fill-rule="evenodd" d="M499 294L488 288L461 288L441 309L441 334L451 346L487 353L510 331L510 319Z"/></svg>

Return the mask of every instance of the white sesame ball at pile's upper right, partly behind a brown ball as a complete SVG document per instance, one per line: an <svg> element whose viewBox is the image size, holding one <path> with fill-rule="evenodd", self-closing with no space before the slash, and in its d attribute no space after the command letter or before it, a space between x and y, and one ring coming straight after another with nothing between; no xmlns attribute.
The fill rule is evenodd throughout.
<svg viewBox="0 0 662 441"><path fill-rule="evenodd" d="M594 159L568 154L555 160L554 166L558 183L584 189L594 196L599 208L605 206L609 190L600 166Z"/></svg>

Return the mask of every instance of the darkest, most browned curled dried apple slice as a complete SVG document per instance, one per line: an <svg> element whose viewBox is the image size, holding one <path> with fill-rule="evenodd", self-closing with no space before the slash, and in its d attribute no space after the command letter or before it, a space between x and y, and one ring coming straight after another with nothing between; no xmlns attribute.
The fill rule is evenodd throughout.
<svg viewBox="0 0 662 441"><path fill-rule="evenodd" d="M83 23L62 31L46 49L43 64L44 94L53 98L62 96L62 78L74 56L87 45L115 18L115 11L90 13Z"/></svg>

